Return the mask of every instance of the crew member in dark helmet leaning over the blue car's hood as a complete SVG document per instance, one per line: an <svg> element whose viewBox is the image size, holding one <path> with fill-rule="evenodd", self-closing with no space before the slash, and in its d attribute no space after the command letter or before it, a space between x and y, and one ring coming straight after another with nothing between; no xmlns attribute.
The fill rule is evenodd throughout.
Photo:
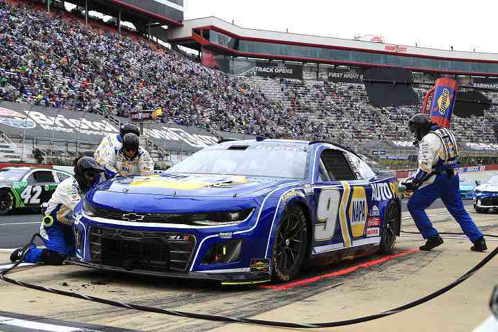
<svg viewBox="0 0 498 332"><path fill-rule="evenodd" d="M134 133L124 135L122 146L107 156L104 165L107 178L154 173L154 161Z"/></svg>

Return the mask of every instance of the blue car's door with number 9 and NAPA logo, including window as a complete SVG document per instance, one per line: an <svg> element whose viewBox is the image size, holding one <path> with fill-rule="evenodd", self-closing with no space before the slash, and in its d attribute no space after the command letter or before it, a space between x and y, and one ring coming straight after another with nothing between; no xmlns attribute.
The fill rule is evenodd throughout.
<svg viewBox="0 0 498 332"><path fill-rule="evenodd" d="M338 149L325 148L317 154L315 252L349 248L365 237L371 189L352 161Z"/></svg>

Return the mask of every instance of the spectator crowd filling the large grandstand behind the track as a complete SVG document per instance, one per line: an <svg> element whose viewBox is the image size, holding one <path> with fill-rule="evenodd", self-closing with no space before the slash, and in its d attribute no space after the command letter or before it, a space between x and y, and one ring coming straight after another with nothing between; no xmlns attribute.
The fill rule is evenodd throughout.
<svg viewBox="0 0 498 332"><path fill-rule="evenodd" d="M0 99L115 116L160 110L163 122L347 145L407 139L407 119L420 110L373 107L363 84L231 76L138 35L6 0L0 0ZM496 113L493 107L487 120ZM483 119L453 121L462 140L494 140Z"/></svg>

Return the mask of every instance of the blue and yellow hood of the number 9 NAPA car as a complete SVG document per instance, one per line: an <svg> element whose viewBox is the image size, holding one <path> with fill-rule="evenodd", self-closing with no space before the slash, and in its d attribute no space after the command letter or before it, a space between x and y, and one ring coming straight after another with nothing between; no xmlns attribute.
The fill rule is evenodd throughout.
<svg viewBox="0 0 498 332"><path fill-rule="evenodd" d="M248 196L268 187L291 182L296 182L296 180L234 175L165 173L116 178L98 185L95 192L233 198L234 196Z"/></svg>

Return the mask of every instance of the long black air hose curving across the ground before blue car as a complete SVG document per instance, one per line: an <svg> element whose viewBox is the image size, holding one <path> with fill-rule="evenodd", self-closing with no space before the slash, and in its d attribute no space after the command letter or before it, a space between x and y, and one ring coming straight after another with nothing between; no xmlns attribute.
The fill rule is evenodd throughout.
<svg viewBox="0 0 498 332"><path fill-rule="evenodd" d="M443 234L443 233L440 233L440 234ZM448 233L448 234L454 234L454 233ZM486 234L485 234L485 236L498 237L496 235L486 235ZM33 235L33 237L30 240L30 243L27 246L31 246L33 241L35 241L36 237L40 237L40 235L39 234ZM41 237L40 237L40 239L41 239ZM400 313L400 312L405 311L409 308L413 308L414 306L418 306L420 304L428 302L431 299L434 299L435 297L438 297L439 295L442 295L442 294L450 291L452 288L458 286L459 284L464 282L466 279L468 279L470 276L472 276L474 273L476 273L477 270L479 270L480 268L485 266L488 263L488 261L490 261L493 257L495 257L498 254L498 247L495 248L495 250L492 250L492 252L490 252L489 255L484 257L484 259L479 261L479 264L477 264L476 266L474 266L473 268L468 270L467 273L465 273L464 275L462 275L458 279L454 280L454 282L452 282L448 286L445 286L445 287L439 289L438 291L435 291L434 293L431 293L430 295L426 295L425 297L422 297L421 299L417 299L413 302L409 302L408 304L405 304L404 306L398 306L397 308L394 308L392 310L382 311L381 313L376 313L374 315L353 318L352 320L341 320L338 322L326 322L326 323L275 322L275 321L270 321L270 320L254 320L254 319L250 319L250 318L225 317L225 316L218 316L218 315L205 315L205 314L201 314L201 313L187 313L185 311L175 311L175 310L169 310L169 309L163 309L163 308L154 308L151 306L140 306L138 304L112 301L110 299L101 299L100 297L94 297L94 296L90 296L90 295L82 295L82 294L68 292L68 291L61 291L61 290L54 289L54 288L48 288L48 287L44 287L44 286L28 284L25 282L19 282L15 279L11 279L9 277L6 277L6 275L8 273L10 273L19 264L21 264L22 261L24 261L24 256L26 256L26 253L27 253L27 251L24 252L23 256L21 257L21 259L19 261L17 261L16 264L11 266L10 268L7 268L6 270L1 271L0 272L0 279L2 279L4 282L10 282L11 284L15 284L18 286L36 289L37 291L44 291L44 292L53 293L53 294L66 295L69 297L75 297L77 299L86 299L88 301L109 304L111 306L118 306L121 308L129 308L129 309L134 309L134 310L138 310L138 311L145 311L145 312L149 312L149 313L162 313L165 315L173 315L173 316L186 317L186 318L196 318L199 320L210 320L213 322L256 324L256 325L264 325L264 326L277 326L277 327L289 327L289 328L300 328L300 329L320 329L320 328L324 328L324 327L352 325L352 324L358 324L361 322L369 322L371 320L378 320L379 318L394 315L395 313Z"/></svg>

